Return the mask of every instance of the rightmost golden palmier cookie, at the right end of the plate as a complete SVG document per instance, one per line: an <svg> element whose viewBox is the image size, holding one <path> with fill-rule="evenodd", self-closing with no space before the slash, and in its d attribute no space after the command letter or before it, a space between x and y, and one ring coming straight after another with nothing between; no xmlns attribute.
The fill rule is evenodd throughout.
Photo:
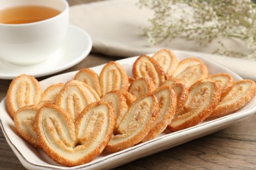
<svg viewBox="0 0 256 170"><path fill-rule="evenodd" d="M242 109L256 94L256 84L253 80L238 80L230 92L221 99L217 108L211 113L209 118L224 116Z"/></svg>

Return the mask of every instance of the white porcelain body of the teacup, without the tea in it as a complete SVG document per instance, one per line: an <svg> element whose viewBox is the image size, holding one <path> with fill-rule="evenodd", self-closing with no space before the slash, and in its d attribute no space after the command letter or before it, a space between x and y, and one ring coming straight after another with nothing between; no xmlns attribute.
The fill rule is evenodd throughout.
<svg viewBox="0 0 256 170"><path fill-rule="evenodd" d="M18 6L43 6L60 12L52 18L39 22L26 24L0 22L1 59L16 65L33 65L54 56L68 30L66 0L0 0L0 4L0 11Z"/></svg>

